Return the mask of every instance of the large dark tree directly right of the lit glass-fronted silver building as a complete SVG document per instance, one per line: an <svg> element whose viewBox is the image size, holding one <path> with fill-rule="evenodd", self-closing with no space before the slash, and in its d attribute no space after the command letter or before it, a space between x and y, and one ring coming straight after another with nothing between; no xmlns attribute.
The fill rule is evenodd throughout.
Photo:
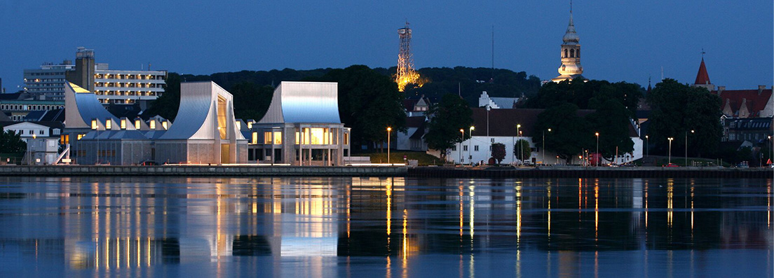
<svg viewBox="0 0 774 278"><path fill-rule="evenodd" d="M322 79L338 83L339 114L341 121L352 128L355 146L387 141L387 127L406 131L403 94L389 76L356 65L330 70Z"/></svg>

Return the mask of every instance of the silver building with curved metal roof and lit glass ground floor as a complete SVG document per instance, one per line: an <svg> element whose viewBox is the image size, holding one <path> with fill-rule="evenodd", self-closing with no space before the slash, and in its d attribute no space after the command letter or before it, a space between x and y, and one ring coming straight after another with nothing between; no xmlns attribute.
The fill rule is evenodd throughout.
<svg viewBox="0 0 774 278"><path fill-rule="evenodd" d="M248 129L248 160L257 163L342 165L350 151L337 83L283 81L265 116Z"/></svg>

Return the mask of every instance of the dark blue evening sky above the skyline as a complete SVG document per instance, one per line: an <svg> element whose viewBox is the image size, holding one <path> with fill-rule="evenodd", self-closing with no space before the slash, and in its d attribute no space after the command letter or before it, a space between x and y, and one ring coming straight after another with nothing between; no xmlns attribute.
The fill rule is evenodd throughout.
<svg viewBox="0 0 774 278"><path fill-rule="evenodd" d="M576 1L584 76L693 83L701 49L712 82L771 86L772 2ZM0 0L0 78L96 51L111 69L209 74L365 64L395 66L396 30L413 28L416 67L491 66L557 76L567 1L17 1Z"/></svg>

